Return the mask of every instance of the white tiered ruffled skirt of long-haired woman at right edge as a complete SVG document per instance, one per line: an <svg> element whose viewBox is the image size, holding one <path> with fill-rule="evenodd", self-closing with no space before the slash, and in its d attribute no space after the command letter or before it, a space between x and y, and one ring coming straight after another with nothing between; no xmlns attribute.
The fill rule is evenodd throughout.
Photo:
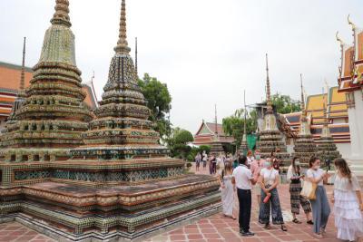
<svg viewBox="0 0 363 242"><path fill-rule="evenodd" d="M363 236L363 216L355 191L334 190L335 227L338 238L353 241Z"/></svg>

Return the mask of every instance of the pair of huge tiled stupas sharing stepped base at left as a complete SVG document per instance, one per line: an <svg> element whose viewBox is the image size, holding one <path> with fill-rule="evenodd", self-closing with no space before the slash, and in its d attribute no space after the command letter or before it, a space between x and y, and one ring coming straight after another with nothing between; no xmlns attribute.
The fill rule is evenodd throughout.
<svg viewBox="0 0 363 242"><path fill-rule="evenodd" d="M184 172L184 161L169 157L148 121L129 54L125 0L93 113L83 105L69 2L55 2L25 103L1 136L0 221L16 219L57 241L117 241L217 212L218 180Z"/></svg>

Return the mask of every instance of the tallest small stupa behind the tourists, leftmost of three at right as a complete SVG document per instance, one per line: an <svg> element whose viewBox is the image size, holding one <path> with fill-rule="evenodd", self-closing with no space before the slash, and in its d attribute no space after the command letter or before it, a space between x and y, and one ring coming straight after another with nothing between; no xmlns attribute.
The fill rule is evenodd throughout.
<svg viewBox="0 0 363 242"><path fill-rule="evenodd" d="M271 152L275 152L276 157L281 160L281 166L285 167L289 164L289 153L286 144L282 138L282 134L278 128L276 116L273 113L271 95L270 95L270 77L269 62L266 53L266 95L267 95L267 111L263 117L263 126L260 131L260 140L257 141L257 149L260 150L261 158L269 158Z"/></svg>

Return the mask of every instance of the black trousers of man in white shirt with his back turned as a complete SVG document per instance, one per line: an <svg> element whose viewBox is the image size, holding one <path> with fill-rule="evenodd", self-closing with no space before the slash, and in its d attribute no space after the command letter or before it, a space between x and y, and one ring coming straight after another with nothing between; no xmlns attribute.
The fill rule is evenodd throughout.
<svg viewBox="0 0 363 242"><path fill-rule="evenodd" d="M250 207L251 207L251 194L250 189L237 189L237 196L240 202L240 228L243 232L250 231Z"/></svg>

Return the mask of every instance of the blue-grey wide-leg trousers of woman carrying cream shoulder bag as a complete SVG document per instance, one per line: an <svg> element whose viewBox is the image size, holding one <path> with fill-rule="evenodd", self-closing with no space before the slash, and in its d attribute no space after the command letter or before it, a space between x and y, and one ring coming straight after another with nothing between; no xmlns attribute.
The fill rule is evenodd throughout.
<svg viewBox="0 0 363 242"><path fill-rule="evenodd" d="M320 233L321 228L327 227L330 207L327 197L327 192L323 186L318 186L315 191L316 199L310 200L312 207L312 218L314 220L313 231L316 234Z"/></svg>

